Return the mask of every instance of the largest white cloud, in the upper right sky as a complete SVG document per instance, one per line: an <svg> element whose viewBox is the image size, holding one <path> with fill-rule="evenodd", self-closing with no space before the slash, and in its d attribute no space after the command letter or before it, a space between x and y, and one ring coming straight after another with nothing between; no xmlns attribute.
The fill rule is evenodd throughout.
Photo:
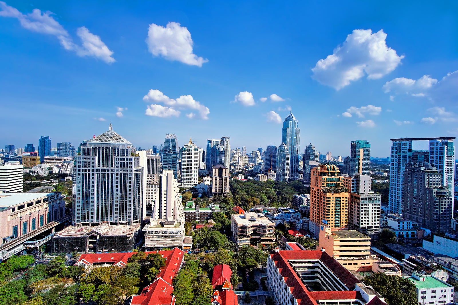
<svg viewBox="0 0 458 305"><path fill-rule="evenodd" d="M378 79L396 69L403 59L388 48L387 34L383 30L354 30L344 44L334 49L326 59L318 60L313 78L323 85L339 90L365 74L368 79Z"/></svg>

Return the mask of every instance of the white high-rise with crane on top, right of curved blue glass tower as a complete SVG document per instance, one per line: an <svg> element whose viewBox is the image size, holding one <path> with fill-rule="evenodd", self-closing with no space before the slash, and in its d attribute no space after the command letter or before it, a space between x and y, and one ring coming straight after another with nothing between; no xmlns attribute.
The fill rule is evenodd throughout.
<svg viewBox="0 0 458 305"><path fill-rule="evenodd" d="M199 147L191 138L181 152L181 186L193 187L199 183Z"/></svg>

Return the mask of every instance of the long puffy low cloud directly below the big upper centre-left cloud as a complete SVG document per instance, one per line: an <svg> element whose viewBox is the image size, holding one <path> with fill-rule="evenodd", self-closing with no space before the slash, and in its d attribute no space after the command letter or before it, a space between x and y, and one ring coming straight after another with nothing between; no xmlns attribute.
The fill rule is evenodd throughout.
<svg viewBox="0 0 458 305"><path fill-rule="evenodd" d="M164 95L164 93L162 93L159 90L150 90L148 94L143 97L143 100L147 103L152 103L152 102L153 103L164 103L165 105L171 106L171 107L170 108L163 107L163 108L172 109L174 111L175 109L196 110L199 113L198 117L203 120L207 120L208 114L210 113L210 109L202 105L200 102L197 102L196 100L194 100L194 98L192 98L191 95L182 95L180 96L180 98L173 99L173 98L169 98L167 95ZM163 108L157 108L157 109L163 109ZM176 113L180 115L180 111L176 111L175 114ZM196 115L191 112L190 114L187 114L186 116L191 119L191 118L194 118Z"/></svg>

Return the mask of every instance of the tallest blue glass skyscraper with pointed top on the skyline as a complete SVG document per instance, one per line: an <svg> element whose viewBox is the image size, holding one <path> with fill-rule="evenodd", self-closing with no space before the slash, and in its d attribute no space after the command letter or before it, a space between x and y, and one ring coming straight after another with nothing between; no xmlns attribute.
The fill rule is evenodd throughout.
<svg viewBox="0 0 458 305"><path fill-rule="evenodd" d="M299 179L299 146L300 129L292 112L283 122L282 143L288 147L289 152L289 181Z"/></svg>

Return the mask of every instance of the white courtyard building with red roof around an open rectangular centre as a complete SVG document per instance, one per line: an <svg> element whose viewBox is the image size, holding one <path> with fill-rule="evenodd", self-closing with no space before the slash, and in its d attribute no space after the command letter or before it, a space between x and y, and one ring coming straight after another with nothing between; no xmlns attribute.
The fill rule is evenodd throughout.
<svg viewBox="0 0 458 305"><path fill-rule="evenodd" d="M329 254L322 251L276 251L267 259L267 283L278 305L386 305Z"/></svg>

